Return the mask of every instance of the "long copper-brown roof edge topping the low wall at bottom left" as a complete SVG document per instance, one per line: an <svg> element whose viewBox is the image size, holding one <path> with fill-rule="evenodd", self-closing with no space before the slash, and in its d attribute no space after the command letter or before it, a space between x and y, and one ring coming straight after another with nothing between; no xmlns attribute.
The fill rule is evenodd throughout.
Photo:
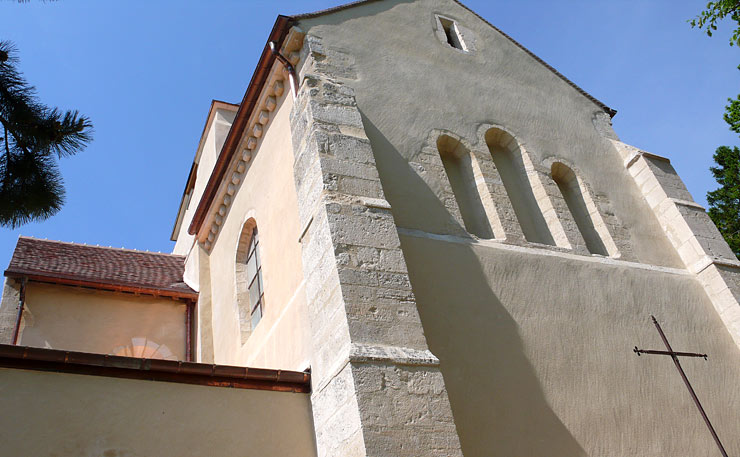
<svg viewBox="0 0 740 457"><path fill-rule="evenodd" d="M278 392L311 392L311 375L298 371L140 359L0 344L0 368L74 373Z"/></svg>

